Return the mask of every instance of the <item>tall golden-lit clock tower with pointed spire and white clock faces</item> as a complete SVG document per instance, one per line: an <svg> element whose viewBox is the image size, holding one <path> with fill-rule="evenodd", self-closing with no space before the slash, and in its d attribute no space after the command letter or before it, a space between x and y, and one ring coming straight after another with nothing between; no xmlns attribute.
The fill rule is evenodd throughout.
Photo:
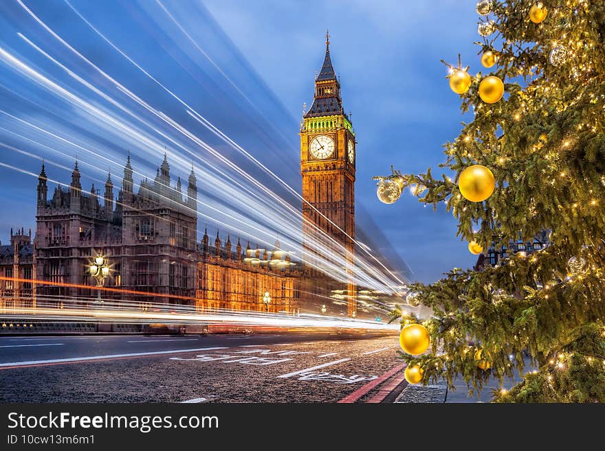
<svg viewBox="0 0 605 451"><path fill-rule="evenodd" d="M304 114L300 128L300 170L305 198L303 247L306 260L315 262L312 266L321 266L313 255L329 254L335 261L346 262L343 266L350 275L355 251L355 131L342 108L340 80L332 67L327 33L326 56L315 80L314 102ZM316 240L322 235L321 231L342 246L318 249ZM314 303L321 303L321 299L333 292L342 293L339 296L347 299L347 314L357 314L357 293L351 281L334 290L333 282L321 284L317 271L311 270L311 273L307 291L318 297Z"/></svg>

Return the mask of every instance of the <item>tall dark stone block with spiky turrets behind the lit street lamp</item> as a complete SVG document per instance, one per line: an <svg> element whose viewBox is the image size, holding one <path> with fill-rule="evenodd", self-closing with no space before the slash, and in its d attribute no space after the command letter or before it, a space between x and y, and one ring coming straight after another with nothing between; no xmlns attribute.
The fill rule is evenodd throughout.
<svg viewBox="0 0 605 451"><path fill-rule="evenodd" d="M92 186L84 192L78 163L67 188L57 186L47 199L44 166L39 176L36 216L36 279L58 283L41 285L38 296L61 307L90 302L95 286L89 265L104 256L111 268L104 286L152 293L127 296L104 292L103 299L159 303L191 303L195 297L197 262L196 179L191 172L187 195L181 180L170 185L166 156L155 180L141 181L134 192L130 157L124 167L118 201L113 200L111 174L104 194Z"/></svg>

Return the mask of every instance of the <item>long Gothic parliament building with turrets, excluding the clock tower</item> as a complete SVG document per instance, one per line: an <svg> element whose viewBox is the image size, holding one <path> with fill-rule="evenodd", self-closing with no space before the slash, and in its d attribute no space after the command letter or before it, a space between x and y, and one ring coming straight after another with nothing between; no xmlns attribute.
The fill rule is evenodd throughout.
<svg viewBox="0 0 605 451"><path fill-rule="evenodd" d="M78 163L69 187L55 187L48 198L43 165L37 187L36 238L23 229L12 233L10 245L0 246L0 308L45 305L64 308L94 305L96 280L89 266L97 255L109 263L103 302L195 305L200 312L256 310L298 312L300 265L276 243L273 251L238 239L208 233L197 242L197 180L191 172L187 193L181 180L170 185L166 156L153 181L143 180L135 192L130 157L122 189L114 203L113 182L107 177L101 196L95 187L83 192ZM49 284L32 284L36 279ZM141 293L141 294L138 294Z"/></svg>

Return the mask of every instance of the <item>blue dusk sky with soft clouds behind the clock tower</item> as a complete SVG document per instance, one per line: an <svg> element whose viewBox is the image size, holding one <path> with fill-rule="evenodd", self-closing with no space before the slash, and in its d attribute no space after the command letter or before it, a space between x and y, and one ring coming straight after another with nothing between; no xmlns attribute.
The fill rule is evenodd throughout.
<svg viewBox="0 0 605 451"><path fill-rule="evenodd" d="M113 78L161 111L172 112L171 117L186 120L182 108L175 108L166 93L141 78L114 49L91 33L65 2L24 3ZM423 172L428 166L437 170L443 161L441 146L456 137L463 119L468 120L459 111L459 97L450 91L446 68L439 60L455 62L460 52L464 65L470 65L472 72L479 70L478 49L473 45L478 40L473 2L461 7L460 1L447 0L163 1L189 30L197 49L183 40L151 1L71 3L115 45L225 134L280 172L293 187L300 186L298 127L303 102L312 102L314 72L320 69L325 30L329 28L333 65L340 73L344 106L353 113L358 140L358 204L378 224L393 250L408 262L415 279L434 281L454 266L466 268L474 263L466 244L455 236L456 222L450 213L441 207L436 212L425 208L408 193L395 205L383 205L371 180L374 175L388 174L391 164L402 172ZM63 56L66 65L71 62L83 75L89 71L73 55L65 55L65 49L16 2L7 0L1 8L0 43L4 49L45 73L53 73L39 55L23 46L17 36L21 32L46 46L50 54ZM200 48L206 56L199 52L192 56L192 51ZM91 75L91 80L98 81L98 77ZM47 113L36 108L52 108L52 98L29 89L18 74L2 64L0 83L0 100L6 111L50 123ZM19 90L23 97L34 98L38 106L15 96ZM51 116L56 126L58 113ZM62 120L67 121L65 127L80 124L87 128L85 121ZM6 117L0 117L0 126L10 127ZM96 142L103 137L99 130L90 129L83 135L94 135ZM14 137L1 130L0 139L17 147ZM114 173L120 171L118 147L124 146L115 146ZM39 172L40 161L5 149L0 152L1 163ZM139 160L140 167L155 172L155 161ZM67 181L71 162L61 161L65 170L55 168L54 176ZM0 187L5 194L0 206L4 211L0 217L3 242L8 240L10 227L34 226L35 183L30 176L0 167Z"/></svg>

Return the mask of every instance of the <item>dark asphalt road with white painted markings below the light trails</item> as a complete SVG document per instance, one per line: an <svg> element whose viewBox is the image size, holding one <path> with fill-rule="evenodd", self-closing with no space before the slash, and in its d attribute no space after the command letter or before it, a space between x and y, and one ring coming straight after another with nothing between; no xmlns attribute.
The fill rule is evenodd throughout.
<svg viewBox="0 0 605 451"><path fill-rule="evenodd" d="M376 402L403 381L398 348L396 334L4 336L0 402Z"/></svg>

